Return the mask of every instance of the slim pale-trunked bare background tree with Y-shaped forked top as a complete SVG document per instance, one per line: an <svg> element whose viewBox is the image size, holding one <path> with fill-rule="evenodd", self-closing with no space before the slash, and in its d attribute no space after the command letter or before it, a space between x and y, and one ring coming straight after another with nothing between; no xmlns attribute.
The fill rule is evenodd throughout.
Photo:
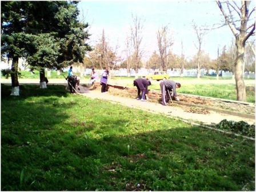
<svg viewBox="0 0 256 192"><path fill-rule="evenodd" d="M202 41L203 41L203 35L205 35L205 31L200 29L195 23L193 22L193 29L195 30L195 33L197 34L197 41L198 45L194 44L197 48L197 78L200 78L201 76L201 54L202 54Z"/></svg>

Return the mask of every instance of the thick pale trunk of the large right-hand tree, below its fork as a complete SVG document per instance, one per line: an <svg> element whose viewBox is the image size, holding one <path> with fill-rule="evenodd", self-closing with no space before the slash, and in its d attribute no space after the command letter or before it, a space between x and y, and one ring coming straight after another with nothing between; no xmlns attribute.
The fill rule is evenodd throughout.
<svg viewBox="0 0 256 192"><path fill-rule="evenodd" d="M242 41L239 39L237 39L235 44L237 46L237 58L235 59L235 85L237 86L237 100L246 101L245 82L243 81L245 46L242 45Z"/></svg>

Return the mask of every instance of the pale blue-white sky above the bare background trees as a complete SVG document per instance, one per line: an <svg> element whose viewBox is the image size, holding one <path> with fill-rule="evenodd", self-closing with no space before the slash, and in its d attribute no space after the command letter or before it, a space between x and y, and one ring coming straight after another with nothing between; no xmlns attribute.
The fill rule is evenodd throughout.
<svg viewBox="0 0 256 192"><path fill-rule="evenodd" d="M251 3L250 7L255 6ZM215 1L82 1L78 4L80 14L90 24L90 45L95 45L101 37L102 30L110 46L119 44L120 51L125 50L125 39L132 24L131 14L138 15L143 21L142 48L143 59L150 57L157 47L157 30L161 26L169 26L170 35L174 39L173 53L181 54L181 41L185 57L196 53L194 43L197 37L192 28L192 21L198 25L223 23L223 15ZM217 25L218 26L218 25ZM218 45L229 46L233 34L228 26L207 31L203 38L203 50L210 58L217 57ZM123 53L120 53L123 54ZM124 54L123 54L124 55Z"/></svg>

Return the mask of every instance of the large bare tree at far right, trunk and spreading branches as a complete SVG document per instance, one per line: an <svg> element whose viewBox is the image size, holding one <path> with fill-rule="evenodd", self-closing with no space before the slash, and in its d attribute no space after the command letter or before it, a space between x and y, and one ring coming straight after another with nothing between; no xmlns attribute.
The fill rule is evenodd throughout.
<svg viewBox="0 0 256 192"><path fill-rule="evenodd" d="M237 47L236 58L235 58L235 84L237 87L237 100L246 101L246 87L243 81L244 65L245 65L245 44L247 39L255 34L255 19L253 23L249 26L247 24L250 22L250 16L255 7L249 12L249 5L251 1L241 1L241 7L237 5L235 1L221 2L217 1L217 5L221 10L225 22L229 25L232 33L235 36L235 46ZM229 15L225 13L223 5L226 5ZM237 15L234 15L234 12ZM238 19L237 19L238 18ZM240 26L237 26L238 23Z"/></svg>

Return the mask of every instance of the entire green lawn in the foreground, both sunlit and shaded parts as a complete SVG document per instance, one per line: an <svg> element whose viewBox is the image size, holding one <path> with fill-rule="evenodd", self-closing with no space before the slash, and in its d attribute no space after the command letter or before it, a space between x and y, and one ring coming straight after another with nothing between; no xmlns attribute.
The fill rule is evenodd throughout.
<svg viewBox="0 0 256 192"><path fill-rule="evenodd" d="M1 86L1 190L255 190L253 141L63 86L21 89Z"/></svg>

